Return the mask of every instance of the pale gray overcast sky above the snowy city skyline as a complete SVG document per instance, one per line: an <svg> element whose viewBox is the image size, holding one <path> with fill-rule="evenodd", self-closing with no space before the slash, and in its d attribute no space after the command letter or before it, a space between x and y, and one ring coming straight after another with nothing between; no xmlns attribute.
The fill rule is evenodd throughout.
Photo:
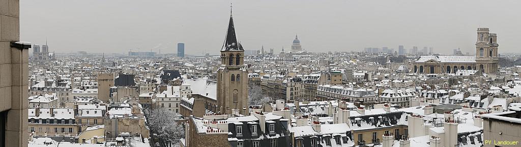
<svg viewBox="0 0 521 147"><path fill-rule="evenodd" d="M500 52L521 52L521 1L233 1L238 39L245 49L290 48L295 34L308 51L364 47L434 47L473 54L476 30L498 34ZM230 1L20 2L20 39L56 52L129 49L217 54Z"/></svg>

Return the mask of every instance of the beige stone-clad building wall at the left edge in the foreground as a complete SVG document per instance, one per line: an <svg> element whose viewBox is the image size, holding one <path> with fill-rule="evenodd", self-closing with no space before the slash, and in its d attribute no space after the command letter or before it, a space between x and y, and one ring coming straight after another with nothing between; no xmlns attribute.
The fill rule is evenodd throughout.
<svg viewBox="0 0 521 147"><path fill-rule="evenodd" d="M0 0L0 115L5 144L27 146L29 50L11 47L20 39L19 0Z"/></svg>

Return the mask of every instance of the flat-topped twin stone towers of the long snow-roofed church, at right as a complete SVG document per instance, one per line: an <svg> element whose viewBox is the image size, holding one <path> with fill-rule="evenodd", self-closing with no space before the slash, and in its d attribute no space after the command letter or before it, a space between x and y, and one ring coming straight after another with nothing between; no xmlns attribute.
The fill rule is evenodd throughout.
<svg viewBox="0 0 521 147"><path fill-rule="evenodd" d="M476 69L484 73L496 73L499 67L498 36L488 28L478 28L476 41Z"/></svg>

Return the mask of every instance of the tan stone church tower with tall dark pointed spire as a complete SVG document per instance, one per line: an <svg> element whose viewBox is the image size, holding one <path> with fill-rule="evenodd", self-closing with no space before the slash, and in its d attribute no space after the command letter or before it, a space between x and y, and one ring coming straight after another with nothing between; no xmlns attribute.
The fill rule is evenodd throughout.
<svg viewBox="0 0 521 147"><path fill-rule="evenodd" d="M237 42L230 15L228 31L221 48L221 65L217 70L217 103L220 113L249 115L247 75L244 49Z"/></svg>

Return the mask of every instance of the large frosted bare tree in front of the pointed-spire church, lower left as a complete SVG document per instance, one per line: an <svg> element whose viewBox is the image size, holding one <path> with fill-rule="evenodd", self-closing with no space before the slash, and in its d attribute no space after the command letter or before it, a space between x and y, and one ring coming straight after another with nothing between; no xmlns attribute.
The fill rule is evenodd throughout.
<svg viewBox="0 0 521 147"><path fill-rule="evenodd" d="M177 123L179 113L165 108L148 109L148 127L157 134L157 137L168 142L178 143L184 137L184 127Z"/></svg>

